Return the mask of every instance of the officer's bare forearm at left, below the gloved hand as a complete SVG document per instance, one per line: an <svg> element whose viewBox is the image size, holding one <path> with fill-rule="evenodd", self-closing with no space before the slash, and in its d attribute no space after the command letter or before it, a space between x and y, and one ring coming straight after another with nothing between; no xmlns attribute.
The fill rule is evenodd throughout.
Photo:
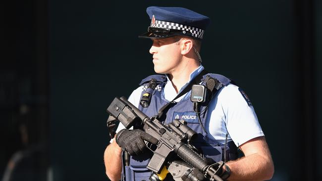
<svg viewBox="0 0 322 181"><path fill-rule="evenodd" d="M119 181L122 173L122 150L115 139L104 152L106 175L111 181Z"/></svg>

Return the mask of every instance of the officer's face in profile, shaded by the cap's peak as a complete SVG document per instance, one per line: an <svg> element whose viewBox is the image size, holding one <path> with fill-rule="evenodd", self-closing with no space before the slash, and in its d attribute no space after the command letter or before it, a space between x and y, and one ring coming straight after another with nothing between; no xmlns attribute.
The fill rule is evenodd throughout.
<svg viewBox="0 0 322 181"><path fill-rule="evenodd" d="M159 74L172 74L181 62L180 44L177 38L154 39L150 48L154 70Z"/></svg>

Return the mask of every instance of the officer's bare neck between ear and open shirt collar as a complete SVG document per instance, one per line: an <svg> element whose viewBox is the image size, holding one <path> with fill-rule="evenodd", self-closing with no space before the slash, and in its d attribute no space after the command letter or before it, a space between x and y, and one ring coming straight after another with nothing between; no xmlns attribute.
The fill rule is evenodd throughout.
<svg viewBox="0 0 322 181"><path fill-rule="evenodd" d="M200 66L199 61L188 59L168 74L173 88L178 93L181 88L190 80L190 74Z"/></svg>

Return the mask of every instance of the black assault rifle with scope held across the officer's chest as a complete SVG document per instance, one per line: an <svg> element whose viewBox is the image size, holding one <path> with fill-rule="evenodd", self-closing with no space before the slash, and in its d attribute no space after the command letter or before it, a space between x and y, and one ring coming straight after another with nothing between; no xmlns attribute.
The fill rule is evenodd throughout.
<svg viewBox="0 0 322 181"><path fill-rule="evenodd" d="M190 129L184 120L175 119L172 123L164 125L155 117L149 118L125 97L115 97L108 106L107 112L119 120L126 129L134 124L140 124L145 133L159 140L157 145L146 142L147 147L154 153L147 166L151 171L160 174L164 164L168 163L168 156L174 152L187 163L180 164L173 161L173 164L168 165L167 170L170 173L173 172L171 175L176 176L174 178L181 180L181 176L185 174L192 181L199 181L191 174L192 168L197 168L210 181L222 181L217 172L222 169L223 162L207 164L204 158L193 150L189 141L194 139L197 133ZM178 171L178 166L182 170L175 173Z"/></svg>

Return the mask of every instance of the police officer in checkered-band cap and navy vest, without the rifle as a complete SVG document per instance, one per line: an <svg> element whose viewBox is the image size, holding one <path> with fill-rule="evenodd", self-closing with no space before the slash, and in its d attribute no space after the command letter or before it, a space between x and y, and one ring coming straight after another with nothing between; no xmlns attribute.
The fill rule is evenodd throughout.
<svg viewBox="0 0 322 181"><path fill-rule="evenodd" d="M176 118L184 119L199 133L196 147L206 157L215 162L230 160L219 174L222 179L271 179L274 172L272 159L247 95L226 77L203 71L205 68L201 65L199 51L210 19L181 7L151 6L147 13L151 25L148 32L139 38L153 41L150 53L154 70L163 75L144 79L141 86L132 92L129 101L148 116L157 115L163 105L172 101L159 120L167 124ZM200 74L204 74L201 79ZM179 97L177 95L196 79L199 84L206 85L207 78L218 80L220 87L208 96L209 100L200 107L201 115L198 117L190 101L191 90ZM152 86L151 80L154 81ZM148 103L142 102L147 95L145 93L151 95ZM145 150L144 140L152 143L158 140L140 129L125 130L121 124L116 132L104 153L107 177L117 181L123 172L126 180L148 180L151 171L145 167L151 155ZM237 148L244 154L238 159ZM127 167L122 167L122 150L132 155ZM125 169L122 171L122 168Z"/></svg>

